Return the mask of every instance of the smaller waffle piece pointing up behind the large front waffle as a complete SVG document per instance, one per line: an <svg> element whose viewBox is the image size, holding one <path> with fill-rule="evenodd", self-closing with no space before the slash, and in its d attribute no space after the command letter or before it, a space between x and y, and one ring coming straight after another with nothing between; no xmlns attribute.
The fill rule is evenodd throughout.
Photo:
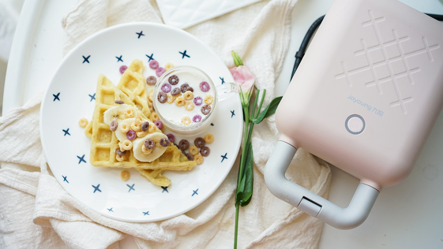
<svg viewBox="0 0 443 249"><path fill-rule="evenodd" d="M145 66L141 60L134 60L120 78L117 87L135 103L145 116L150 117L146 79L143 76Z"/></svg>

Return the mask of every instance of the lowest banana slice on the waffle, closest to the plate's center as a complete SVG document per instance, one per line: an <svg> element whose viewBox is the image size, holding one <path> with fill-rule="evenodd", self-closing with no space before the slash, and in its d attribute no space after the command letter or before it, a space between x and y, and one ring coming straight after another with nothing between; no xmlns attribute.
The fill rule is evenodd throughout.
<svg viewBox="0 0 443 249"><path fill-rule="evenodd" d="M167 147L163 147L160 145L160 139L168 139L166 135L163 133L148 133L145 137L136 138L132 141L134 157L141 162L152 162L159 158L163 153L165 153ZM144 154L142 151L142 146L145 146L145 140L153 139L155 142L155 146L152 149L151 153Z"/></svg>

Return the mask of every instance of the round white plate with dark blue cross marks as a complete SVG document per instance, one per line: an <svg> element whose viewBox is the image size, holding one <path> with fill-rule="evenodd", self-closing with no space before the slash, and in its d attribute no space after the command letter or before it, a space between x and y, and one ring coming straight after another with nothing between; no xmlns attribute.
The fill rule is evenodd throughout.
<svg viewBox="0 0 443 249"><path fill-rule="evenodd" d="M218 103L212 125L199 135L214 135L209 156L191 171L166 171L172 182L167 188L153 185L133 169L124 182L121 169L89 164L90 140L78 120L92 116L98 74L117 84L120 66L141 59L147 65L145 77L155 75L148 66L151 58L162 67L168 62L199 67L215 84L234 81L215 53L190 34L166 25L130 23L98 32L74 48L42 101L40 133L52 173L70 195L109 218L148 222L185 213L218 188L239 152L243 117L240 97L234 94ZM192 144L196 137L187 139Z"/></svg>

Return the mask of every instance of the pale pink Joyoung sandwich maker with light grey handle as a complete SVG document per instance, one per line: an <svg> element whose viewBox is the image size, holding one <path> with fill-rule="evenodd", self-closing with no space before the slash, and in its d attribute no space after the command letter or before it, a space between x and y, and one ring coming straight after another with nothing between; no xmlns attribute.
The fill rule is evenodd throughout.
<svg viewBox="0 0 443 249"><path fill-rule="evenodd" d="M269 190L337 228L360 225L408 176L442 110L442 45L443 24L396 0L336 0L277 108ZM361 179L348 207L285 178L298 148Z"/></svg>

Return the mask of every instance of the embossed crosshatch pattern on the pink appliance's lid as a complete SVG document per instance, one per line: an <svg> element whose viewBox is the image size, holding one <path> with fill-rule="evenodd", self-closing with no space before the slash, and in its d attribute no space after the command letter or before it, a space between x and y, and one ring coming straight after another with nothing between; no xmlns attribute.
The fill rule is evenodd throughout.
<svg viewBox="0 0 443 249"><path fill-rule="evenodd" d="M422 71L416 57L425 56L432 62L432 53L441 49L440 45L429 42L425 36L416 41L403 35L407 33L405 27L392 27L385 17L372 10L368 10L366 19L361 26L367 36L359 41L361 49L354 52L355 57L366 58L366 63L341 61L342 72L335 78L345 79L350 87L364 85L374 89L385 95L390 107L407 114L408 103L414 100L411 86L419 83L414 75Z"/></svg>

